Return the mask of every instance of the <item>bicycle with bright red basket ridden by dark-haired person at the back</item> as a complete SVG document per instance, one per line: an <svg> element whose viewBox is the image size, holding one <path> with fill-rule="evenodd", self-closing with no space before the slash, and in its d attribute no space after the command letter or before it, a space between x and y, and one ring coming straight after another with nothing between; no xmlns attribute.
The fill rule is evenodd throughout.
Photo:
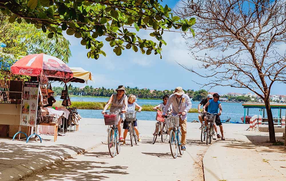
<svg viewBox="0 0 286 181"><path fill-rule="evenodd" d="M167 137L168 137L168 129L165 124L164 118L162 118L162 112L157 110L157 115L156 115L156 127L155 127L155 132L153 136L153 141L152 144L156 142L157 136L161 136L162 142L165 142Z"/></svg>

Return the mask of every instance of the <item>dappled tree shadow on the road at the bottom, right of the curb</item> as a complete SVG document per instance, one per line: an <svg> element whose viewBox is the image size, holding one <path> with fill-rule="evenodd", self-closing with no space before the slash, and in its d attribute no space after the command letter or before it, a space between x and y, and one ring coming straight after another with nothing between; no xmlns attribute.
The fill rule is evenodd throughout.
<svg viewBox="0 0 286 181"><path fill-rule="evenodd" d="M107 162L65 160L33 175L34 180L106 180L106 174L128 174L128 167L107 166ZM97 170L97 171L94 171ZM49 171L49 172L47 172ZM29 180L31 178L27 178ZM24 178L25 180L25 178Z"/></svg>

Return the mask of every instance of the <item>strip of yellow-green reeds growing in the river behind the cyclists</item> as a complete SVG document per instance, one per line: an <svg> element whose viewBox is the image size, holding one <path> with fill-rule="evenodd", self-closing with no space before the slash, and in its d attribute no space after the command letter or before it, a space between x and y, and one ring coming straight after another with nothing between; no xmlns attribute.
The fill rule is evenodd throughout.
<svg viewBox="0 0 286 181"><path fill-rule="evenodd" d="M54 107L61 107L62 101L57 101L53 104ZM76 107L78 109L92 109L92 110L103 110L106 102L80 102L73 101L71 107ZM157 105L142 105L142 111L154 111L153 108ZM202 110L201 110L202 111ZM189 113L196 113L198 109L191 108Z"/></svg>

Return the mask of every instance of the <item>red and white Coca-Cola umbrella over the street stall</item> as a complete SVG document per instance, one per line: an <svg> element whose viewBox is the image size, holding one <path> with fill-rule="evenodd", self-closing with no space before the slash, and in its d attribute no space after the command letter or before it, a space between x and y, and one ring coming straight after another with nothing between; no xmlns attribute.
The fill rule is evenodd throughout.
<svg viewBox="0 0 286 181"><path fill-rule="evenodd" d="M11 66L13 74L39 76L43 72L46 77L72 78L74 73L63 61L51 55L27 55Z"/></svg>

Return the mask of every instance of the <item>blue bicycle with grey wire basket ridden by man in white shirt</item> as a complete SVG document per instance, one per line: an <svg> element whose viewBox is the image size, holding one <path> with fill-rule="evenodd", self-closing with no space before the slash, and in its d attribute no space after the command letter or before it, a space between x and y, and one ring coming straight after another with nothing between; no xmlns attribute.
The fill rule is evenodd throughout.
<svg viewBox="0 0 286 181"><path fill-rule="evenodd" d="M167 128L171 128L170 130L170 149L173 158L177 158L178 150L180 155L184 154L184 150L181 150L182 147L182 133L179 124L180 115L177 114L176 116L167 116L165 118L165 123Z"/></svg>

